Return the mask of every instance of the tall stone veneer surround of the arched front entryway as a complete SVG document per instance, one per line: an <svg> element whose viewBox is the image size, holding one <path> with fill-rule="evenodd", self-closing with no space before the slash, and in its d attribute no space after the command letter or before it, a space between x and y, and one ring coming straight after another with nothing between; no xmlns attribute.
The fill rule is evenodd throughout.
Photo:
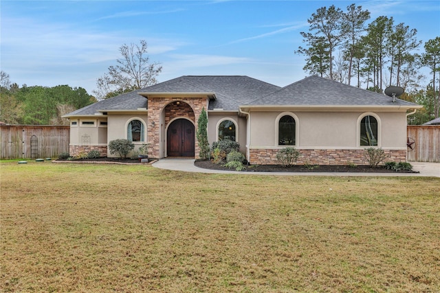
<svg viewBox="0 0 440 293"><path fill-rule="evenodd" d="M170 104L172 102L179 101L180 105ZM151 143L151 147L148 150L148 156L151 158L160 158L160 141L159 141L159 118L162 114L162 110L170 104L170 114L166 119L170 121L174 117L187 117L195 122L195 133L197 133L197 121L199 120L199 116L201 113L201 109L208 109L208 99L206 97L185 97L185 98L176 98L176 97L148 97L148 142ZM192 114L188 111L185 105L188 104L192 109ZM178 108L183 109L177 110ZM181 115L181 116L176 116ZM167 115L166 115L167 116ZM151 121L155 121L155 126L152 126ZM166 126L166 125L165 125ZM166 135L166 133L164 133ZM166 145L164 145L166 148ZM197 139L195 139L195 159L199 159L199 143Z"/></svg>

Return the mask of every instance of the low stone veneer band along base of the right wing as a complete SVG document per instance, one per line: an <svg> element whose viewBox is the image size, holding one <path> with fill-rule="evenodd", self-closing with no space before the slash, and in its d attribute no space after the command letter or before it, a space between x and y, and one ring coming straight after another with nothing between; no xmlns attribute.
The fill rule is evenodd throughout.
<svg viewBox="0 0 440 293"><path fill-rule="evenodd" d="M365 150L299 150L301 152L297 164L304 165L368 165ZM250 164L278 165L276 153L278 149L251 149ZM406 150L384 150L388 154L385 161L405 162Z"/></svg>

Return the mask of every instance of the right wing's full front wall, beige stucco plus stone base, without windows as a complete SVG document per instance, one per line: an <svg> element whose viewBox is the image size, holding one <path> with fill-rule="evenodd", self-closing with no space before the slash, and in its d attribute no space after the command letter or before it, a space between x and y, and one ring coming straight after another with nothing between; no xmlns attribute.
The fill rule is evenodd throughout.
<svg viewBox="0 0 440 293"><path fill-rule="evenodd" d="M310 112L254 111L250 117L248 160L251 164L276 164L278 119L292 114L296 120L296 145L303 154L298 164L365 164L364 145L360 145L360 119L373 115L378 121L378 145L388 161L406 161L405 112Z"/></svg>

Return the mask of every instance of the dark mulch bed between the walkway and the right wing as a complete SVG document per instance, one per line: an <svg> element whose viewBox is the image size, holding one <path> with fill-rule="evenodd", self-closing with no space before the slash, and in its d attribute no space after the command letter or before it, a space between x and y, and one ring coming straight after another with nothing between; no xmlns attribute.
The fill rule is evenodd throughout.
<svg viewBox="0 0 440 293"><path fill-rule="evenodd" d="M195 161L197 167L214 170L231 170L225 167L225 163L215 164L213 161ZM336 166L336 165L294 165L285 167L283 165L247 165L243 172L353 172L353 173L396 173L391 169L382 166L372 168L368 165L357 166ZM419 173L417 171L399 170L397 173Z"/></svg>

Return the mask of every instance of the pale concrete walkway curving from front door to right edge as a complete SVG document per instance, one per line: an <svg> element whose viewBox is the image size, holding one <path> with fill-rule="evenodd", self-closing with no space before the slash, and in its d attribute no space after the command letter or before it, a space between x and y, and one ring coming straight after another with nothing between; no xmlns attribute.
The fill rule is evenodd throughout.
<svg viewBox="0 0 440 293"><path fill-rule="evenodd" d="M194 165L194 159L160 159L153 167L184 172L209 174L281 175L281 176L434 176L440 177L440 163L410 162L412 169L420 173L356 173L356 172L236 172L202 169Z"/></svg>

